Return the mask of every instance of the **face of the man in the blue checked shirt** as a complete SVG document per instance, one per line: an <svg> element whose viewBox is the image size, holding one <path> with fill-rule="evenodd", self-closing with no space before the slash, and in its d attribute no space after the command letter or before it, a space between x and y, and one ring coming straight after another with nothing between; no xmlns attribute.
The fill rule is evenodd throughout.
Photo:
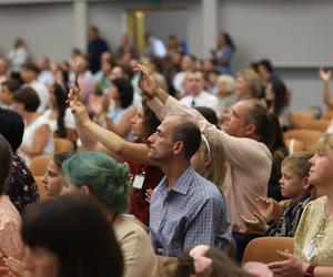
<svg viewBox="0 0 333 277"><path fill-rule="evenodd" d="M157 132L148 138L149 152L148 157L160 163L168 163L173 156L173 135L172 126L176 124L174 116L167 117Z"/></svg>

